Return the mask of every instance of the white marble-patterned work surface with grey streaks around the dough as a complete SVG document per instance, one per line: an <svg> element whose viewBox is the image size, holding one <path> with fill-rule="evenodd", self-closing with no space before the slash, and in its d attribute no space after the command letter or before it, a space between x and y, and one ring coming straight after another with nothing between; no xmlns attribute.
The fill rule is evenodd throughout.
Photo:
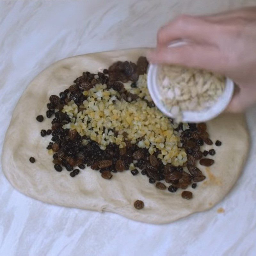
<svg viewBox="0 0 256 256"><path fill-rule="evenodd" d="M88 52L154 46L157 29L178 13L252 4L255 0L1 1L1 150L20 95L52 62ZM168 225L44 204L14 190L0 172L0 255L255 255L254 108L247 117L251 152L235 187L211 210ZM220 207L224 213L217 213Z"/></svg>

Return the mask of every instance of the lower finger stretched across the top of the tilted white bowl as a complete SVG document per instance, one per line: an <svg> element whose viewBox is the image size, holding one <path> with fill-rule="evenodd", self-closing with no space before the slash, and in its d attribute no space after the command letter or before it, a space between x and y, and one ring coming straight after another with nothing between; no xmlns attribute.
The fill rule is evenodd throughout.
<svg viewBox="0 0 256 256"><path fill-rule="evenodd" d="M179 64L193 68L204 68L221 73L219 51L215 46L186 44L177 47L161 47L148 53L151 63Z"/></svg>

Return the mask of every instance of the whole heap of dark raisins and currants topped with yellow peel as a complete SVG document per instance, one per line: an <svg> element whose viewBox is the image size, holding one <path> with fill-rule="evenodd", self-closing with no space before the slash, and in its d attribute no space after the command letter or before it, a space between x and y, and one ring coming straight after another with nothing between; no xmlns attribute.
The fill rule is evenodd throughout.
<svg viewBox="0 0 256 256"><path fill-rule="evenodd" d="M110 180L126 170L138 177L140 169L149 183L172 193L205 179L195 165L206 155L200 147L212 144L206 124L176 124L164 116L149 95L147 66L145 57L136 64L118 61L103 73L83 72L60 96L51 95L46 116L52 126L41 136L52 136L47 149L57 172L65 168L75 177L76 166L87 165Z"/></svg>

